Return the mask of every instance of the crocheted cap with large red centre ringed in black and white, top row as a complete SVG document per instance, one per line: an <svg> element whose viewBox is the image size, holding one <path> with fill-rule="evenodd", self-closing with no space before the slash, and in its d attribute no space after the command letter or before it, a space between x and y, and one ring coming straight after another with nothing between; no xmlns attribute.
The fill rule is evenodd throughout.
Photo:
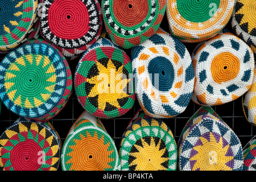
<svg viewBox="0 0 256 182"><path fill-rule="evenodd" d="M101 7L97 0L45 0L41 35L67 59L85 52L101 34Z"/></svg>

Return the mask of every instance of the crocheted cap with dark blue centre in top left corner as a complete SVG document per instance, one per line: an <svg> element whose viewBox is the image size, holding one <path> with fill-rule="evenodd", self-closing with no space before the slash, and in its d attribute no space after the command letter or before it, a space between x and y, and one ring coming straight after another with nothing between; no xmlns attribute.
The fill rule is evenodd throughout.
<svg viewBox="0 0 256 182"><path fill-rule="evenodd" d="M17 47L27 39L37 16L38 0L0 1L0 51Z"/></svg>

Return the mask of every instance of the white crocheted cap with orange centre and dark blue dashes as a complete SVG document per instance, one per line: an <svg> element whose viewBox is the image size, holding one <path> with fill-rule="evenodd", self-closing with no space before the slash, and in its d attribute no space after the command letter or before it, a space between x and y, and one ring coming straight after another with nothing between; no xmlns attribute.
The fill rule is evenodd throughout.
<svg viewBox="0 0 256 182"><path fill-rule="evenodd" d="M254 55L237 36L224 33L199 43L191 56L195 86L192 100L214 106L231 102L250 89Z"/></svg>

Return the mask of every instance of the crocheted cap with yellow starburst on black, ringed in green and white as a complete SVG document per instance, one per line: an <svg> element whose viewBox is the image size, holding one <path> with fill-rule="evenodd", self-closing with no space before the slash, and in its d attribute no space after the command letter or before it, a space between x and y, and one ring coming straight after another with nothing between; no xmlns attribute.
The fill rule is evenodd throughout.
<svg viewBox="0 0 256 182"><path fill-rule="evenodd" d="M122 171L176 171L177 146L169 127L143 110L137 115L122 137Z"/></svg>

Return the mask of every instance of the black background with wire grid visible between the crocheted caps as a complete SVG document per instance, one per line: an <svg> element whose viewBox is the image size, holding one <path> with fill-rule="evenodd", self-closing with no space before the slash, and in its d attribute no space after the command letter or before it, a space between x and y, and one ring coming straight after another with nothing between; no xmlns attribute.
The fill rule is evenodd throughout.
<svg viewBox="0 0 256 182"><path fill-rule="evenodd" d="M164 16L160 27L170 33L166 15ZM229 29L231 32L234 32L231 29L230 22L227 24L226 28ZM185 43L185 46L190 53L194 50L196 45L197 43ZM125 49L125 51L130 57L131 50ZM4 56L4 54L0 54L0 61L2 61ZM68 61L73 75L73 80L75 68L77 67L78 61L81 56L79 56L78 59ZM174 118L163 119L166 125L169 126L171 131L173 132L176 142L178 142L179 135L181 134L181 131L185 126L186 122L195 113L195 111L199 109L199 107L199 105L194 104L193 101L190 101L189 106L187 106L186 110L182 114L179 114L177 117ZM133 118L134 114L138 111L139 108L140 106L138 104L138 101L136 100L133 108L125 115L113 119L102 119L103 125L106 127L106 130L110 134L110 136L114 139L118 150L119 144L122 139L122 134L125 131L131 118ZM227 125L229 125L231 129L233 129L235 134L238 135L238 138L242 143L242 147L245 146L245 144L249 142L249 140L254 137L254 135L256 135L256 126L251 125L246 120L245 115L243 114L242 97L239 97L237 100L224 105L213 106L213 109L223 119L223 121L225 121ZM73 93L70 97L70 100L67 102L64 109L56 117L50 120L55 130L57 130L58 134L60 135L62 144L65 141L70 127L79 117L79 115L83 113L83 111L83 107L79 104L75 96L73 84ZM7 110L5 105L2 104L2 110L0 115L0 135L16 119L18 119L18 115L15 115L11 111ZM59 167L59 170L61 170L61 167Z"/></svg>

